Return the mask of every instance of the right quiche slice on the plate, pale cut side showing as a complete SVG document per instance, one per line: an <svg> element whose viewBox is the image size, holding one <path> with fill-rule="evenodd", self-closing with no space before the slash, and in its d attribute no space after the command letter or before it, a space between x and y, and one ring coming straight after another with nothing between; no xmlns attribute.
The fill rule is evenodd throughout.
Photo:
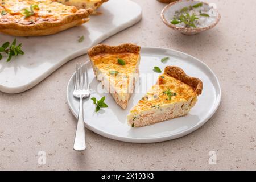
<svg viewBox="0 0 256 182"><path fill-rule="evenodd" d="M127 116L132 127L142 127L187 115L202 93L203 83L179 67L166 67L158 82L131 109Z"/></svg>

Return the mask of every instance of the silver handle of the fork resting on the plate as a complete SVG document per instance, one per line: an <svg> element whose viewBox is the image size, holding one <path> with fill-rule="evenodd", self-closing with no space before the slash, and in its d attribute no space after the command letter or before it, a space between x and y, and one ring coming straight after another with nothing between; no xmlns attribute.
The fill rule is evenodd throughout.
<svg viewBox="0 0 256 182"><path fill-rule="evenodd" d="M84 109L82 108L82 97L80 98L79 118L76 127L76 136L74 142L74 150L83 151L86 148L85 130L84 130Z"/></svg>

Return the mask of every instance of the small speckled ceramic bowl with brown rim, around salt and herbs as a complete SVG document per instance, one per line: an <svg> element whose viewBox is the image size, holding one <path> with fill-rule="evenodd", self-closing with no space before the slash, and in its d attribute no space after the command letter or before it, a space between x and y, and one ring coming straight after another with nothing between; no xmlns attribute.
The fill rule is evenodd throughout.
<svg viewBox="0 0 256 182"><path fill-rule="evenodd" d="M210 24L207 24L203 27L197 27L197 28L185 28L185 27L180 27L171 23L171 19L174 17L176 11L183 9L183 7L196 5L197 3L203 3L202 7L204 7L205 9L208 9L209 11L212 11L213 15L210 15L210 16L211 18L213 18L213 21ZM218 22L220 22L221 16L220 16L220 13L218 13L215 4L208 4L206 2L201 2L196 0L180 0L180 1L172 2L166 7L164 7L161 13L161 18L168 27L176 31L179 31L185 35L195 35L215 27L218 24Z"/></svg>

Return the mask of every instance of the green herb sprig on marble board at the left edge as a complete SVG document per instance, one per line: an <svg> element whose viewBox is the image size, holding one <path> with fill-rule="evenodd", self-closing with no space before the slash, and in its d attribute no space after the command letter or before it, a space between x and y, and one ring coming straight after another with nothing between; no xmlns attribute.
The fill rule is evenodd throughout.
<svg viewBox="0 0 256 182"><path fill-rule="evenodd" d="M0 60L3 58L2 53L6 53L8 55L6 62L9 62L13 56L24 55L22 51L22 43L16 46L16 39L13 40L13 43L5 42L0 47Z"/></svg>

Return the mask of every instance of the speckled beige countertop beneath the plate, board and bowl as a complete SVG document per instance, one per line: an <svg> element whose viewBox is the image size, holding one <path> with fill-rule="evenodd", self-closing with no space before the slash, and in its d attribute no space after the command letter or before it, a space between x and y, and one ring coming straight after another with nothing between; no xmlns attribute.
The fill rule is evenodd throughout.
<svg viewBox="0 0 256 182"><path fill-rule="evenodd" d="M87 59L81 56L27 92L0 93L0 169L256 169L256 1L210 1L221 22L195 36L164 25L164 4L134 1L143 8L142 21L104 43L172 48L203 60L222 86L216 114L186 137L162 143L118 142L86 130L88 148L75 152L66 87L77 61ZM46 152L46 165L38 164L39 151ZM209 164L209 151L217 164Z"/></svg>

